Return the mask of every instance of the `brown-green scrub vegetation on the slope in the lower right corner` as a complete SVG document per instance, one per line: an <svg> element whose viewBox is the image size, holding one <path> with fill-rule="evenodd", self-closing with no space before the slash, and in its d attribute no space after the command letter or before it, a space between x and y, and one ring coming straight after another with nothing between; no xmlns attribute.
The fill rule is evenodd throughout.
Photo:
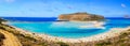
<svg viewBox="0 0 130 46"><path fill-rule="evenodd" d="M103 43L98 43L96 46L129 46L130 45L130 30L127 32L120 33L119 36L108 39L105 41L108 42L103 42Z"/></svg>

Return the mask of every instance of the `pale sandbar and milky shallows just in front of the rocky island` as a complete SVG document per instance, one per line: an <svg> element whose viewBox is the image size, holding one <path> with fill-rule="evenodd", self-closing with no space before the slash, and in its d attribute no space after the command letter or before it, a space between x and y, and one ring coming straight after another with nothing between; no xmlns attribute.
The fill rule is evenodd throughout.
<svg viewBox="0 0 130 46"><path fill-rule="evenodd" d="M51 28L78 28L78 29L105 29L103 21L57 21L51 25Z"/></svg>

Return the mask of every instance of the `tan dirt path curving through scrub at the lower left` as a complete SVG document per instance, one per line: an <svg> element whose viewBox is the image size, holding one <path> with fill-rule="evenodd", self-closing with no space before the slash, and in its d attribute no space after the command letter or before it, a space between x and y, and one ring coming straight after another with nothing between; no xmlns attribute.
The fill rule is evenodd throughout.
<svg viewBox="0 0 130 46"><path fill-rule="evenodd" d="M5 36L5 40L3 41L3 46L22 46L17 37L14 36L12 33L4 30L0 30L0 32L3 33Z"/></svg>

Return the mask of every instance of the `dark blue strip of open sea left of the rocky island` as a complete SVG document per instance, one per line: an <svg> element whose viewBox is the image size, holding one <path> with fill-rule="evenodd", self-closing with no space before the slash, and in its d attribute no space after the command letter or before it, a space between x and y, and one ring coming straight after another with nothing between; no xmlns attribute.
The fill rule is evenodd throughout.
<svg viewBox="0 0 130 46"><path fill-rule="evenodd" d="M56 17L3 17L10 21L55 21Z"/></svg>

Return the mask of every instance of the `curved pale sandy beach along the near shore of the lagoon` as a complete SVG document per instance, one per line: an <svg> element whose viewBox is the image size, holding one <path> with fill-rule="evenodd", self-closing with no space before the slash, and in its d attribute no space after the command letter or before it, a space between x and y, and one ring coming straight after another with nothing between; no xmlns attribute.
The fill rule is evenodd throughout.
<svg viewBox="0 0 130 46"><path fill-rule="evenodd" d="M13 27L13 26L11 26ZM88 36L88 37L81 37L81 39L64 39L64 37L56 37L56 36L51 36L48 34L38 34L38 33L32 33L16 27L15 30L20 31L21 34L24 35L29 35L36 40L46 40L49 42L64 42L64 43L87 43L87 42L98 42L101 40L105 40L105 39L110 39L110 37L115 37L120 35L121 32L126 32L128 29L130 29L130 27L127 28L112 28L109 31L104 32L104 33L100 33L96 35L92 35L92 36Z"/></svg>

